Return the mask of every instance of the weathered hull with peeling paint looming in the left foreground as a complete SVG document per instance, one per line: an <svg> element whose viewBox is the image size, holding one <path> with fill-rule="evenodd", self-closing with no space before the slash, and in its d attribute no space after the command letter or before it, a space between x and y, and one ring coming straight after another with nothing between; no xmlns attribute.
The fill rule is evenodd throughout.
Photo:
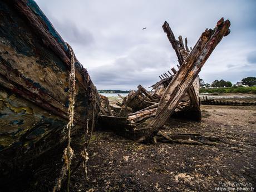
<svg viewBox="0 0 256 192"><path fill-rule="evenodd" d="M0 21L0 189L22 191L27 182L52 190L66 146L71 55L32 0L0 1ZM71 146L80 159L100 96L76 58L75 73Z"/></svg>

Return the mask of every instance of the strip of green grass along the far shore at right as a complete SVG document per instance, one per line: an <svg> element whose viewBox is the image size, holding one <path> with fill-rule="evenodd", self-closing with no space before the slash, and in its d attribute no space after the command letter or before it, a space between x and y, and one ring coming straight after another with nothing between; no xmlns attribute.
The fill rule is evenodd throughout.
<svg viewBox="0 0 256 192"><path fill-rule="evenodd" d="M200 93L253 93L256 94L256 87L227 87L227 88L200 88Z"/></svg>

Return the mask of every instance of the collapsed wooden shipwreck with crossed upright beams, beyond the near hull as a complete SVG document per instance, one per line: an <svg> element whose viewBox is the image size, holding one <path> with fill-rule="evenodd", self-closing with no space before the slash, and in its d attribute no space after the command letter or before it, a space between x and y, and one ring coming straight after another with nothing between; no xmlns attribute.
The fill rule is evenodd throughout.
<svg viewBox="0 0 256 192"><path fill-rule="evenodd" d="M169 24L165 22L163 29L178 57L178 70L171 68L174 74L168 71L159 76L161 81L152 86L151 92L139 85L137 91L122 97L123 102L117 102L117 106L110 106L105 98L104 105L101 105L99 124L107 125L117 133L137 141L156 142L157 135L161 135L169 142L203 144L190 141L189 135L183 135L189 137L185 142L175 140L172 138L179 136L168 136L160 130L171 116L178 114L187 119L201 120L198 75L214 48L230 33L229 26L230 22L221 18L215 28L206 29L194 48L190 47L189 50L187 39L184 46L182 37L176 40Z"/></svg>

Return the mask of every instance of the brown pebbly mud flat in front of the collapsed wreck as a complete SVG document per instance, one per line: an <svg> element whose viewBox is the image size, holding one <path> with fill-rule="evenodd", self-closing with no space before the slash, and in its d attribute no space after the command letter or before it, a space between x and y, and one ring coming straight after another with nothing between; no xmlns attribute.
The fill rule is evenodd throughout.
<svg viewBox="0 0 256 192"><path fill-rule="evenodd" d="M201 110L201 122L172 119L164 131L218 136L218 145L138 144L95 131L88 179L77 169L72 191L215 191L220 182L255 188L256 106Z"/></svg>

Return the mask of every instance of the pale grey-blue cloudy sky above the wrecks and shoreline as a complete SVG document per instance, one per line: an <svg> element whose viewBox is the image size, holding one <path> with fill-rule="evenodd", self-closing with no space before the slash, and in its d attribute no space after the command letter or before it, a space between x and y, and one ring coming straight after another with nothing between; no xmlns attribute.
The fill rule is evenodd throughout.
<svg viewBox="0 0 256 192"><path fill-rule="evenodd" d="M193 47L205 28L221 18L231 33L215 48L200 72L211 83L256 76L256 1L36 0L98 89L149 87L178 64L162 29ZM142 30L146 27L145 30Z"/></svg>

